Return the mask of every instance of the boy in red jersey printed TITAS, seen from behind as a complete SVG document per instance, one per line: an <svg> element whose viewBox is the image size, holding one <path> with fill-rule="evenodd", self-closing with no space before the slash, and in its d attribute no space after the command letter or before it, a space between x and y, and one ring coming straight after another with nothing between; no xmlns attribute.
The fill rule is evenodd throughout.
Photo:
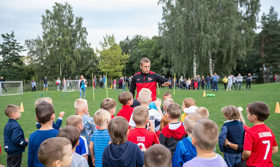
<svg viewBox="0 0 280 167"><path fill-rule="evenodd" d="M152 121L149 121L149 111L147 107L137 106L133 110L132 119L136 128L129 131L128 141L137 144L140 148L149 148L151 145L158 144L158 138L154 132ZM149 123L149 124L148 124ZM146 126L150 129L147 130Z"/></svg>

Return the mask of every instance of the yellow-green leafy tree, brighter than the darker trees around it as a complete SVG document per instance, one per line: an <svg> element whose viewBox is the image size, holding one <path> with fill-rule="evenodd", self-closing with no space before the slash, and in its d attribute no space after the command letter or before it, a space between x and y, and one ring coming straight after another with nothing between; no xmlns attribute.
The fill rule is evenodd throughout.
<svg viewBox="0 0 280 167"><path fill-rule="evenodd" d="M122 49L117 45L114 34L103 36L104 42L100 41L101 50L96 47L99 55L99 66L101 72L106 72L107 76L121 77L125 62L128 62L129 55L122 54Z"/></svg>

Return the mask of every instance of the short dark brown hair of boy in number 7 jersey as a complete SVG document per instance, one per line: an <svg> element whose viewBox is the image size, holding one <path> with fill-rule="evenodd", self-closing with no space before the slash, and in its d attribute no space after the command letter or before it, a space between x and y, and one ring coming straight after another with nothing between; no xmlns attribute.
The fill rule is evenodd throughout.
<svg viewBox="0 0 280 167"><path fill-rule="evenodd" d="M269 107L262 101L256 101L247 105L248 111L251 115L255 115L258 120L265 121L270 114Z"/></svg>

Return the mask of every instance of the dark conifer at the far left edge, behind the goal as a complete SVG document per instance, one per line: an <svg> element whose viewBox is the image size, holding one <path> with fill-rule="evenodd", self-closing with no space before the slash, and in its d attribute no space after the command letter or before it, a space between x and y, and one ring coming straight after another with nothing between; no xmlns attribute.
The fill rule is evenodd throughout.
<svg viewBox="0 0 280 167"><path fill-rule="evenodd" d="M23 56L20 53L25 49L15 39L14 31L11 34L1 34L1 37L4 42L0 44L0 75L9 79L21 79Z"/></svg>

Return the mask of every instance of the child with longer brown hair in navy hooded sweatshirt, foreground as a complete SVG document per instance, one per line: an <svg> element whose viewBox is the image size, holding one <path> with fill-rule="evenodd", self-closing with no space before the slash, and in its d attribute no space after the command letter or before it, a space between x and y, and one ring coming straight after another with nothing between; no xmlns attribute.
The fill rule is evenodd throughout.
<svg viewBox="0 0 280 167"><path fill-rule="evenodd" d="M128 141L128 122L124 117L114 117L108 125L111 144L105 147L102 155L102 167L135 167L144 165L146 148Z"/></svg>

